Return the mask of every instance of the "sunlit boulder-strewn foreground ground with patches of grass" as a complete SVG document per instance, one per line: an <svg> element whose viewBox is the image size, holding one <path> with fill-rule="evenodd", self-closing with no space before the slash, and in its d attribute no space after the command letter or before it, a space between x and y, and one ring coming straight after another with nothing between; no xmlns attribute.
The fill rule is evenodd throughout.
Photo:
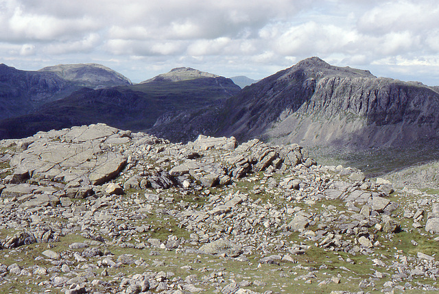
<svg viewBox="0 0 439 294"><path fill-rule="evenodd" d="M0 141L0 293L438 291L437 195L298 145L106 125Z"/></svg>

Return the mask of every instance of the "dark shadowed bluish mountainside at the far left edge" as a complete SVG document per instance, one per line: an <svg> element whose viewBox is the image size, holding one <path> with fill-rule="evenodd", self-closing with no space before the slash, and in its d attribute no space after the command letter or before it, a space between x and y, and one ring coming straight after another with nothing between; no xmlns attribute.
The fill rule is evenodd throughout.
<svg viewBox="0 0 439 294"><path fill-rule="evenodd" d="M27 114L79 88L54 73L20 71L0 64L0 120Z"/></svg>

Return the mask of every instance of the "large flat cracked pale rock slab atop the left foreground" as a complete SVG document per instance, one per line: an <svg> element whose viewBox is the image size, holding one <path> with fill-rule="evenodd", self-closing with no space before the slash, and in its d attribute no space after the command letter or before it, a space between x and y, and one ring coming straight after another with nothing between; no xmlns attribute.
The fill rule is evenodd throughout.
<svg viewBox="0 0 439 294"><path fill-rule="evenodd" d="M40 138L34 138L10 161L16 171L36 179L98 185L114 178L126 165L125 156L110 147L128 143L130 138L114 127L84 125L36 136Z"/></svg>

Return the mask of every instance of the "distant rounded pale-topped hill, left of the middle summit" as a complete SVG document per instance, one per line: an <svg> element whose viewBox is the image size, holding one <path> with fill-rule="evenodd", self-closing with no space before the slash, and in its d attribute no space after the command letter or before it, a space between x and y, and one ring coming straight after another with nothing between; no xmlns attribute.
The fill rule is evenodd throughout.
<svg viewBox="0 0 439 294"><path fill-rule="evenodd" d="M103 66L102 64L58 64L46 66L40 72L55 73L79 86L102 88L112 86L126 86L132 84L130 79L120 73Z"/></svg>

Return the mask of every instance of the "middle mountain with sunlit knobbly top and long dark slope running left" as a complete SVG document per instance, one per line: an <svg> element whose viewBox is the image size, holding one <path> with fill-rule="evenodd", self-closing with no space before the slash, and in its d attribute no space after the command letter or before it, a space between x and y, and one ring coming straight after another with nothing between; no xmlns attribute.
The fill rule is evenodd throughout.
<svg viewBox="0 0 439 294"><path fill-rule="evenodd" d="M82 88L32 114L1 121L0 138L23 138L40 130L90 123L145 130L157 120L167 121L176 110L215 105L241 90L230 79L194 69L175 69L165 76L171 78L162 75L130 86Z"/></svg>

